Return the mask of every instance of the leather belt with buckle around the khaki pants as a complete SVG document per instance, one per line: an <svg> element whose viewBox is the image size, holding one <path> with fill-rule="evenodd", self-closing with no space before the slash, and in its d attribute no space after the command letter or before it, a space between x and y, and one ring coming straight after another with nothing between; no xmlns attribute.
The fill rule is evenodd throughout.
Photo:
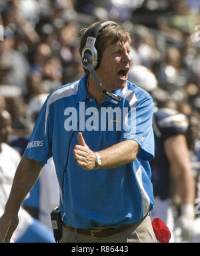
<svg viewBox="0 0 200 256"><path fill-rule="evenodd" d="M147 215L145 215L145 217L147 217ZM129 229L130 227L133 227L135 225L135 228L145 219L145 217L143 217L143 219L141 219L141 221L131 224L131 225L127 225L127 226L122 226L122 227L118 227L118 228L107 228L107 229L101 229L101 230L95 230L95 229L75 229L74 227L69 227L65 222L63 222L63 227L65 227L66 229L69 229L75 233L80 233L80 234L84 234L84 235L90 235L91 237L108 237L109 235L115 235L117 233L120 233L122 231L125 231L126 229Z"/></svg>

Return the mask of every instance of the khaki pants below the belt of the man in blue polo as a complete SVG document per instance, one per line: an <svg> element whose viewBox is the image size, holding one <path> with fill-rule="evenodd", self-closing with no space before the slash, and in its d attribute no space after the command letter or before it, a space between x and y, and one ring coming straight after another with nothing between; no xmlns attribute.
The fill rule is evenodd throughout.
<svg viewBox="0 0 200 256"><path fill-rule="evenodd" d="M109 237L93 238L90 235L75 233L63 227L63 237L59 243L157 243L149 215L123 232Z"/></svg>

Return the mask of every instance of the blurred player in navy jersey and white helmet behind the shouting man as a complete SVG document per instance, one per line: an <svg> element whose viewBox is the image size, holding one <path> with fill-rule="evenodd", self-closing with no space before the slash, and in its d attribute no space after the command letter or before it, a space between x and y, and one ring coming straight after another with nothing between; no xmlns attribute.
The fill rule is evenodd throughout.
<svg viewBox="0 0 200 256"><path fill-rule="evenodd" d="M129 71L129 80L149 91L157 91L157 78L143 66L133 66ZM155 208L151 219L160 217L171 231L170 242L175 241L175 227L181 228L181 237L190 240L194 235L194 199L193 180L189 149L185 133L188 127L187 117L175 109L175 102L163 98L155 100L153 131L155 135L155 158L150 161L155 197ZM181 213L178 219L173 214L172 190L181 201Z"/></svg>

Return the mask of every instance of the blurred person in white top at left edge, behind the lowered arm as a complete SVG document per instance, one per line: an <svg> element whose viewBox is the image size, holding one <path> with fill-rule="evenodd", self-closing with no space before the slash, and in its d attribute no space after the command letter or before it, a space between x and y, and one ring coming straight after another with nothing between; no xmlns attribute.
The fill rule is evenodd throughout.
<svg viewBox="0 0 200 256"><path fill-rule="evenodd" d="M21 155L7 144L11 134L11 115L5 109L0 112L0 215L11 191L13 178ZM19 225L13 233L14 243L53 243L53 233L37 219L29 215L23 207L19 209Z"/></svg>

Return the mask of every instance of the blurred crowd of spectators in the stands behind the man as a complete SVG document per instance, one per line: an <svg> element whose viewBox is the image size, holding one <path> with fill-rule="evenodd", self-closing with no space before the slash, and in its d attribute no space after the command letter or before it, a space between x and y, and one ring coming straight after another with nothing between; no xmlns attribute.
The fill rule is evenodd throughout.
<svg viewBox="0 0 200 256"><path fill-rule="evenodd" d="M1 1L0 107L11 113L13 135L31 134L47 95L83 75L81 31L111 19L131 33L132 65L155 73L155 102L170 101L187 115L196 127L189 147L196 140L200 149L199 13L199 0Z"/></svg>

